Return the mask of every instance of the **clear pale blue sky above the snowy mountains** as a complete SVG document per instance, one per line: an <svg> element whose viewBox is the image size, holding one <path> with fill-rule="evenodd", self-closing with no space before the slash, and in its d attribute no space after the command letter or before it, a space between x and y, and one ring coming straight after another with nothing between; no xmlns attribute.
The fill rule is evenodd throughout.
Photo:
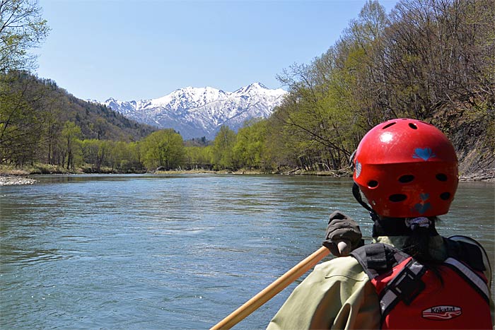
<svg viewBox="0 0 495 330"><path fill-rule="evenodd" d="M366 0L39 0L52 30L37 75L78 98L159 98L187 86L234 91L309 64ZM387 12L397 1L380 0Z"/></svg>

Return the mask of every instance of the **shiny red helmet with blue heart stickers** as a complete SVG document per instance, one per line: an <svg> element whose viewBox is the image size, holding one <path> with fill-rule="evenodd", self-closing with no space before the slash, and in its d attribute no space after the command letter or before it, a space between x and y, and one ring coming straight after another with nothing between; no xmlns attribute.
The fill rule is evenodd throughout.
<svg viewBox="0 0 495 330"><path fill-rule="evenodd" d="M380 216L439 216L454 199L458 159L435 126L392 119L373 127L359 143L354 182Z"/></svg>

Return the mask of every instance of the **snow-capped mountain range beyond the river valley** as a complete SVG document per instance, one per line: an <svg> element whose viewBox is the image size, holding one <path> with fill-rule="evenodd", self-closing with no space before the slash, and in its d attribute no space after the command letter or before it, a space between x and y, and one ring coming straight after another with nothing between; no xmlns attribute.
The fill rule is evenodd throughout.
<svg viewBox="0 0 495 330"><path fill-rule="evenodd" d="M153 100L109 98L103 104L137 122L175 129L184 139L214 139L223 124L237 131L247 119L269 117L286 93L281 88L252 83L235 92L186 87Z"/></svg>

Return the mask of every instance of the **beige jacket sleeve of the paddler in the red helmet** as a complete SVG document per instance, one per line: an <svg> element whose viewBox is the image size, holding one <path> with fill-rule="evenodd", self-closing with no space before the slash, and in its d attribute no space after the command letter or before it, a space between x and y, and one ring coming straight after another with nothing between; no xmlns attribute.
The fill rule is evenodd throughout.
<svg viewBox="0 0 495 330"><path fill-rule="evenodd" d="M267 329L379 329L378 296L353 257L332 259L293 290Z"/></svg>

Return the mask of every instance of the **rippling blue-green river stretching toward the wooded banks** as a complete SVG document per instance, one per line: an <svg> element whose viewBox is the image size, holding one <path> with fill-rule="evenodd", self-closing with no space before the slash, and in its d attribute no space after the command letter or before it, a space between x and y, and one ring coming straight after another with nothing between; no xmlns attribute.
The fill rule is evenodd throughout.
<svg viewBox="0 0 495 330"><path fill-rule="evenodd" d="M37 179L0 187L1 329L209 329L318 249L332 211L371 239L347 178ZM438 231L493 264L494 205L494 184L461 183ZM235 329L264 329L295 285Z"/></svg>

